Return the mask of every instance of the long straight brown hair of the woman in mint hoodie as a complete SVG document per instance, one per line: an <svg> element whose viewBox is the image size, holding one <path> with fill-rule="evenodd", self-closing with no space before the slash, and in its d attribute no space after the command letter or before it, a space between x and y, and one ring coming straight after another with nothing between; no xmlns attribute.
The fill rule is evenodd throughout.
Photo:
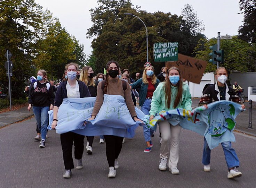
<svg viewBox="0 0 256 188"><path fill-rule="evenodd" d="M179 102L181 102L181 98L182 98L182 91L183 91L182 77L181 77L181 71L177 67L171 67L168 70L168 72L167 72L168 77L169 77L170 70L177 70L179 72L179 76L180 76L179 82L177 83L178 93L177 93L177 96L175 98L174 105L173 105L173 108L176 108L178 106ZM171 105L171 96L173 96L171 94L171 82L170 82L170 79L167 78L165 80L165 106L167 109L169 109L170 105Z"/></svg>

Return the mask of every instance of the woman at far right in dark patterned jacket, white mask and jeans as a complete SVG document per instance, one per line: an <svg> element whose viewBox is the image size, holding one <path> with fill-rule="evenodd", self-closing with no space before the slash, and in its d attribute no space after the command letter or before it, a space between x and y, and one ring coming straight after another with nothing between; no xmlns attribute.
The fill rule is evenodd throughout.
<svg viewBox="0 0 256 188"><path fill-rule="evenodd" d="M245 105L240 102L240 99L238 95L234 92L234 90L227 86L225 83L228 77L227 70L224 67L219 67L215 72L215 78L217 79L217 82L215 84L210 84L205 86L203 95L199 101L199 106L205 105L207 107L207 104L219 101L219 100L228 100L233 102L238 102L241 104L242 109L245 108ZM237 167L239 167L239 160L237 157L237 153L235 152L234 148L231 147L231 142L223 142L221 143L228 173L227 178L234 178L234 177L240 177L242 176L242 173L237 170ZM210 157L211 157L211 150L206 142L203 147L203 170L205 172L210 172Z"/></svg>

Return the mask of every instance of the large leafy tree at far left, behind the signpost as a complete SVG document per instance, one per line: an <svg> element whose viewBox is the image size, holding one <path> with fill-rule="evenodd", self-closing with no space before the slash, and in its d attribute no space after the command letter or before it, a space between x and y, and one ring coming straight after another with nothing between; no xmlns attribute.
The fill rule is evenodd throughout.
<svg viewBox="0 0 256 188"><path fill-rule="evenodd" d="M0 87L7 92L8 77L4 54L8 49L14 63L12 96L25 97L26 80L34 75L32 54L42 28L42 7L33 0L0 1Z"/></svg>

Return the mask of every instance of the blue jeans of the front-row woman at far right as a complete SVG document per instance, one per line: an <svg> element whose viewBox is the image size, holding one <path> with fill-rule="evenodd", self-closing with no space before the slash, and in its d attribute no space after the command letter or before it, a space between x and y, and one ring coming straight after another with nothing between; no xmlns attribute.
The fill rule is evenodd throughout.
<svg viewBox="0 0 256 188"><path fill-rule="evenodd" d="M224 151L227 168L231 169L233 167L238 167L239 160L237 157L237 153L235 153L235 149L231 147L231 142L223 142L221 143L221 145ZM211 159L211 150L205 139L205 145L203 147L203 159L202 159L203 165L210 164L210 159Z"/></svg>

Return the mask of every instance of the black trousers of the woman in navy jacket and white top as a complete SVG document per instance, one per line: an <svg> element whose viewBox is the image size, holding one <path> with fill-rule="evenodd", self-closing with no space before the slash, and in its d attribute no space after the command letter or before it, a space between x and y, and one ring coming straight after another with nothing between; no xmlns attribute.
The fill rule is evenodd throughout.
<svg viewBox="0 0 256 188"><path fill-rule="evenodd" d="M63 160L65 169L73 169L73 157L72 157L72 147L74 143L75 147L75 159L82 159L83 156L83 139L85 136L79 135L73 132L67 132L61 134L61 147L63 152Z"/></svg>

